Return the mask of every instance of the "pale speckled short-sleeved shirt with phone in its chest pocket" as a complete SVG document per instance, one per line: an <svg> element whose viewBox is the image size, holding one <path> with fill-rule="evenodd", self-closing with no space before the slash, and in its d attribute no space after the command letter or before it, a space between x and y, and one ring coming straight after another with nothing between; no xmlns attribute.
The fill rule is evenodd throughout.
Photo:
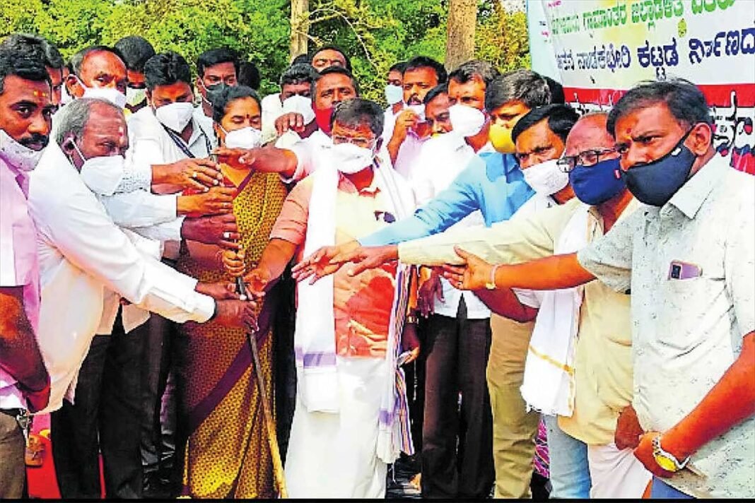
<svg viewBox="0 0 755 503"><path fill-rule="evenodd" d="M631 289L633 405L646 431L667 431L755 330L755 177L716 156L663 207L640 207L578 258L614 290ZM672 279L671 262L701 274ZM755 416L690 464L667 482L700 498L755 498Z"/></svg>

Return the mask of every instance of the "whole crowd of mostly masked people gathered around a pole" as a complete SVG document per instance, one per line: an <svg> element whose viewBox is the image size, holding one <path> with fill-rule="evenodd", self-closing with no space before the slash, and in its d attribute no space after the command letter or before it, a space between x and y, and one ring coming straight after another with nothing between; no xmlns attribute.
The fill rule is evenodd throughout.
<svg viewBox="0 0 755 503"><path fill-rule="evenodd" d="M704 95L0 41L0 498L755 498L755 178ZM270 416L274 416L274 424ZM100 467L101 460L101 467ZM104 488L100 487L100 474Z"/></svg>

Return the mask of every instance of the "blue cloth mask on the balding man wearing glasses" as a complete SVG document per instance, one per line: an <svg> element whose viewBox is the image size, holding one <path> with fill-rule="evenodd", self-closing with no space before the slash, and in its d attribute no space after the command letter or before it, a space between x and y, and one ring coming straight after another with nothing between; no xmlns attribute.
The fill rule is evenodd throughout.
<svg viewBox="0 0 755 503"><path fill-rule="evenodd" d="M626 187L619 158L606 159L592 166L577 164L569 171L569 183L579 200L592 206L605 203Z"/></svg>

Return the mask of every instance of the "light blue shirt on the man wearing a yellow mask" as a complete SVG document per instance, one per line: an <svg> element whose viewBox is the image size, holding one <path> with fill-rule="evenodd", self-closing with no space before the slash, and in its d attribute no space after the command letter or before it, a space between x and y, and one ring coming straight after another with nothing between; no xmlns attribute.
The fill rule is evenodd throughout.
<svg viewBox="0 0 755 503"><path fill-rule="evenodd" d="M513 155L479 152L448 189L414 212L359 240L362 246L384 246L438 234L475 210L485 225L510 219L535 191L524 181Z"/></svg>

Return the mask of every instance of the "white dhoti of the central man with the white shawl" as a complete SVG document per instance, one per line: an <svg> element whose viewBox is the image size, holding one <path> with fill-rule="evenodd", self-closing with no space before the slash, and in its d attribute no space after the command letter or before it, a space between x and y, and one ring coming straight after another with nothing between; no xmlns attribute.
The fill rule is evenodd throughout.
<svg viewBox="0 0 755 503"><path fill-rule="evenodd" d="M384 498L377 459L382 358L337 357L339 413L309 413L297 394L285 482L290 498Z"/></svg>

